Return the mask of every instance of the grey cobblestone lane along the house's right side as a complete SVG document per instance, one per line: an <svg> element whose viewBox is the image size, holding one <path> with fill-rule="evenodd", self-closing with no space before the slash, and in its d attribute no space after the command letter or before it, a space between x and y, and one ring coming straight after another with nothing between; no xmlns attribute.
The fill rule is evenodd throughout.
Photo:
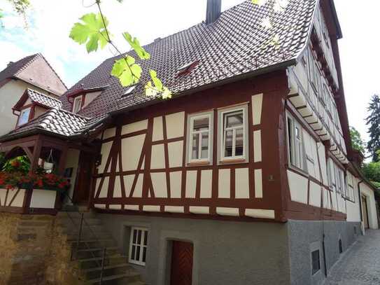
<svg viewBox="0 0 380 285"><path fill-rule="evenodd" d="M367 230L332 267L324 285L380 285L380 230Z"/></svg>

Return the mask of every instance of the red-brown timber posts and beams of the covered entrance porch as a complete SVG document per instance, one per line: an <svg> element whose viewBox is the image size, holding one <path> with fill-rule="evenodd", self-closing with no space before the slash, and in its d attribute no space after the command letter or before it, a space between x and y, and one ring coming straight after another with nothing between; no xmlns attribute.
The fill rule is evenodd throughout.
<svg viewBox="0 0 380 285"><path fill-rule="evenodd" d="M36 134L34 136L23 137L21 139L15 139L13 141L6 141L0 145L0 151L6 153L6 158L11 157L15 150L22 149L22 151L24 151L25 155L27 155L30 160L31 172L34 172L38 167L38 158L41 157L41 151L43 148L54 148L60 152L59 165L57 170L59 174L62 174L64 172L68 150L68 144L65 141L56 139L54 137L48 137L43 134ZM27 189L26 194L24 195L24 202L22 207L0 207L0 211L18 212L21 214L57 214L58 209L61 207L61 201L59 199L58 192L55 199L54 209L31 209L31 194L32 191L30 189Z"/></svg>

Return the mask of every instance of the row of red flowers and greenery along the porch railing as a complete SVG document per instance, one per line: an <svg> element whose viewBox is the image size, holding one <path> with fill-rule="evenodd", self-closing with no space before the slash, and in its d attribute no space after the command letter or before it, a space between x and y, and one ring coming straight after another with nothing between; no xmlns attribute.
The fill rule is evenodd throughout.
<svg viewBox="0 0 380 285"><path fill-rule="evenodd" d="M3 189L44 189L65 191L69 189L69 182L64 177L51 174L24 174L22 172L0 172L0 188Z"/></svg>

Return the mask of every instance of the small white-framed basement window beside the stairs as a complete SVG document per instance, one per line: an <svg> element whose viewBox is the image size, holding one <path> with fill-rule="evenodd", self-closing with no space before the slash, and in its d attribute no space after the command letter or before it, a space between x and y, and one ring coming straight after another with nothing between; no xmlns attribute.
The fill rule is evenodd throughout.
<svg viewBox="0 0 380 285"><path fill-rule="evenodd" d="M132 227L129 239L129 263L145 265L148 249L148 230Z"/></svg>

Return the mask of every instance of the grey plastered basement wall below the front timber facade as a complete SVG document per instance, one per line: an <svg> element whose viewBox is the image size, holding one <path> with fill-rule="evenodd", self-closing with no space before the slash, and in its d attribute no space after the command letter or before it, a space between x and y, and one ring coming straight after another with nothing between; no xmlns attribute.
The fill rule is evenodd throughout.
<svg viewBox="0 0 380 285"><path fill-rule="evenodd" d="M130 228L148 229L146 266L134 266L148 284L169 284L169 252L174 240L194 246L192 284L290 283L285 224L113 214L99 214L98 218L125 255Z"/></svg>

